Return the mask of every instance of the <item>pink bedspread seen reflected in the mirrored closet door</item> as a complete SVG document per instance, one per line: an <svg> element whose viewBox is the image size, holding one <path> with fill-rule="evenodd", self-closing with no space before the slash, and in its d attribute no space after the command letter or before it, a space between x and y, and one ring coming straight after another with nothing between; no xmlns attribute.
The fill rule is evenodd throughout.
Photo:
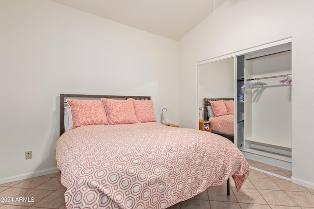
<svg viewBox="0 0 314 209"><path fill-rule="evenodd" d="M224 134L234 134L235 119L234 115L212 117L211 129Z"/></svg>

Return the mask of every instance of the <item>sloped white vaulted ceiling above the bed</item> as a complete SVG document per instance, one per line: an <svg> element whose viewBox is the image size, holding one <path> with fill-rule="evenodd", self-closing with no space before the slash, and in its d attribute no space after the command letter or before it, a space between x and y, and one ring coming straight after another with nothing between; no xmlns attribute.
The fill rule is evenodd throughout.
<svg viewBox="0 0 314 209"><path fill-rule="evenodd" d="M179 41L226 0L51 0Z"/></svg>

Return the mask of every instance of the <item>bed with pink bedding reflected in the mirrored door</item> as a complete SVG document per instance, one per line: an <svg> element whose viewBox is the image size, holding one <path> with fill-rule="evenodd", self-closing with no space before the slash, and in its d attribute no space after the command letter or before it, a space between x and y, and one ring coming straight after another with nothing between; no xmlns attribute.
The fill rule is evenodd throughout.
<svg viewBox="0 0 314 209"><path fill-rule="evenodd" d="M222 103L222 101L225 101ZM216 105L221 104L229 105L226 109L220 110L217 116L212 111L211 102L215 102ZM225 137L234 142L234 100L233 98L204 98L204 120L211 121L211 132Z"/></svg>

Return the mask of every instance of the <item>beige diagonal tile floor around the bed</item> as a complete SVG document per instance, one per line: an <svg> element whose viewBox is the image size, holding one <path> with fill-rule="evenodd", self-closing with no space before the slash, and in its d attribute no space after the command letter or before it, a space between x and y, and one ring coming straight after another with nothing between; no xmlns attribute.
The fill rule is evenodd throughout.
<svg viewBox="0 0 314 209"><path fill-rule="evenodd" d="M252 167L291 176L291 171L247 161ZM230 196L226 195L226 184L213 186L168 209L314 209L314 189L254 169L239 192L232 179L230 183ZM59 173L3 184L0 185L0 201L2 198L13 198L13 201L0 202L0 209L66 209L65 190ZM25 199L19 202L16 197Z"/></svg>

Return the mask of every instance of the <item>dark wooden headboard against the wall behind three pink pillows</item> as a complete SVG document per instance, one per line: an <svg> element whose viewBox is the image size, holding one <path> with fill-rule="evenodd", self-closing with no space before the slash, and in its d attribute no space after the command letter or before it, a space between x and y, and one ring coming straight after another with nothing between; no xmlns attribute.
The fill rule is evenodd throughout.
<svg viewBox="0 0 314 209"><path fill-rule="evenodd" d="M64 94L60 93L60 136L65 132L64 130L64 110L67 105L66 99L137 99L137 100L151 100L150 96L113 96L113 95L89 95L89 94Z"/></svg>

